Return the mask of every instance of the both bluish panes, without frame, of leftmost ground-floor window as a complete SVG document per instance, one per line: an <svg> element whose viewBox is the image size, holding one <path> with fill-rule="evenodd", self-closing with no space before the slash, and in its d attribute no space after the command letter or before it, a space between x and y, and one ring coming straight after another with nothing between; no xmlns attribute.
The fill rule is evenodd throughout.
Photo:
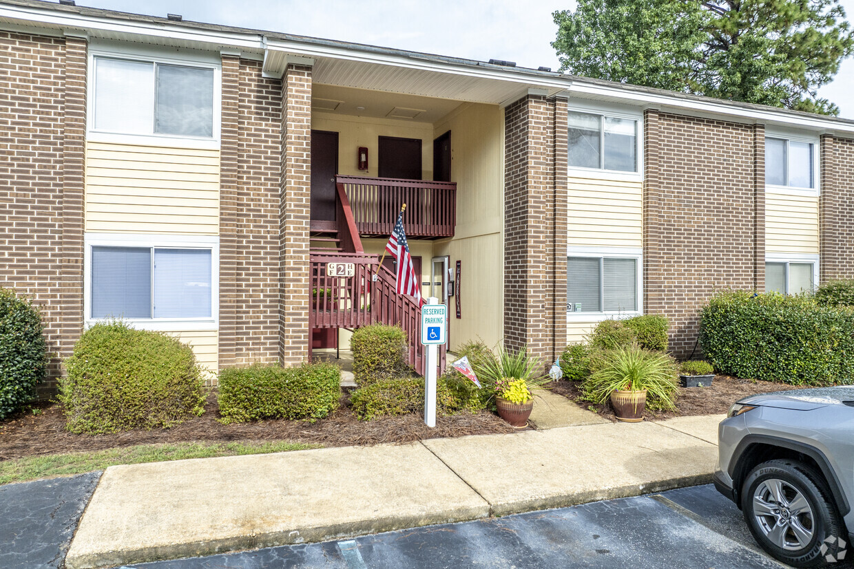
<svg viewBox="0 0 854 569"><path fill-rule="evenodd" d="M92 318L210 318L210 249L92 247Z"/></svg>

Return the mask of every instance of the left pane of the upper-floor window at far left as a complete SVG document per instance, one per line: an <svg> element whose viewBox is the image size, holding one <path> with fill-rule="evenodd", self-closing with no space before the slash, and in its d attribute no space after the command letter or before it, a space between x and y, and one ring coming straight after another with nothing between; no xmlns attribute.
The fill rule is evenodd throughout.
<svg viewBox="0 0 854 569"><path fill-rule="evenodd" d="M154 73L153 63L97 58L95 128L150 134L155 109Z"/></svg>

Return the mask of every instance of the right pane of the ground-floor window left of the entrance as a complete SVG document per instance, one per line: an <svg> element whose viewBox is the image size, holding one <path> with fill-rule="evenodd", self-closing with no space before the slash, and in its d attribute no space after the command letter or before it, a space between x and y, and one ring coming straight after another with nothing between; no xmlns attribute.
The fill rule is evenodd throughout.
<svg viewBox="0 0 854 569"><path fill-rule="evenodd" d="M211 316L211 252L155 249L155 318Z"/></svg>

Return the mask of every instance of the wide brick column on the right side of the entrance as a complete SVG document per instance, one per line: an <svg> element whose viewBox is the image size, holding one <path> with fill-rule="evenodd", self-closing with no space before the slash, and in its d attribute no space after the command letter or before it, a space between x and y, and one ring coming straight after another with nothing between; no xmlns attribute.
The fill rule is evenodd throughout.
<svg viewBox="0 0 854 569"><path fill-rule="evenodd" d="M504 344L510 349L528 345L531 354L551 363L556 272L554 102L529 95L513 103L505 111L505 130ZM564 245L564 257L565 250ZM565 341L564 332L561 344Z"/></svg>

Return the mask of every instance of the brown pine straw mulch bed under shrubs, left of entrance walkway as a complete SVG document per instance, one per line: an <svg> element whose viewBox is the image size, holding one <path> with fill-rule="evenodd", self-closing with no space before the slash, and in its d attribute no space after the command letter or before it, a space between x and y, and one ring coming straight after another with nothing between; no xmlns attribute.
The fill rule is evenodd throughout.
<svg viewBox="0 0 854 569"><path fill-rule="evenodd" d="M348 446L404 444L426 438L516 431L488 411L436 417L436 427L432 429L424 425L424 418L420 414L359 421L347 406L348 402L348 394L342 393L341 407L332 415L314 423L272 420L222 425L217 421L216 392L211 392L208 394L205 413L200 417L191 417L176 427L104 435L69 433L65 429L61 405L43 404L37 407L41 410L38 415L33 415L32 411L19 412L0 421L0 461L77 450L105 450L133 444L287 440L323 446Z"/></svg>

